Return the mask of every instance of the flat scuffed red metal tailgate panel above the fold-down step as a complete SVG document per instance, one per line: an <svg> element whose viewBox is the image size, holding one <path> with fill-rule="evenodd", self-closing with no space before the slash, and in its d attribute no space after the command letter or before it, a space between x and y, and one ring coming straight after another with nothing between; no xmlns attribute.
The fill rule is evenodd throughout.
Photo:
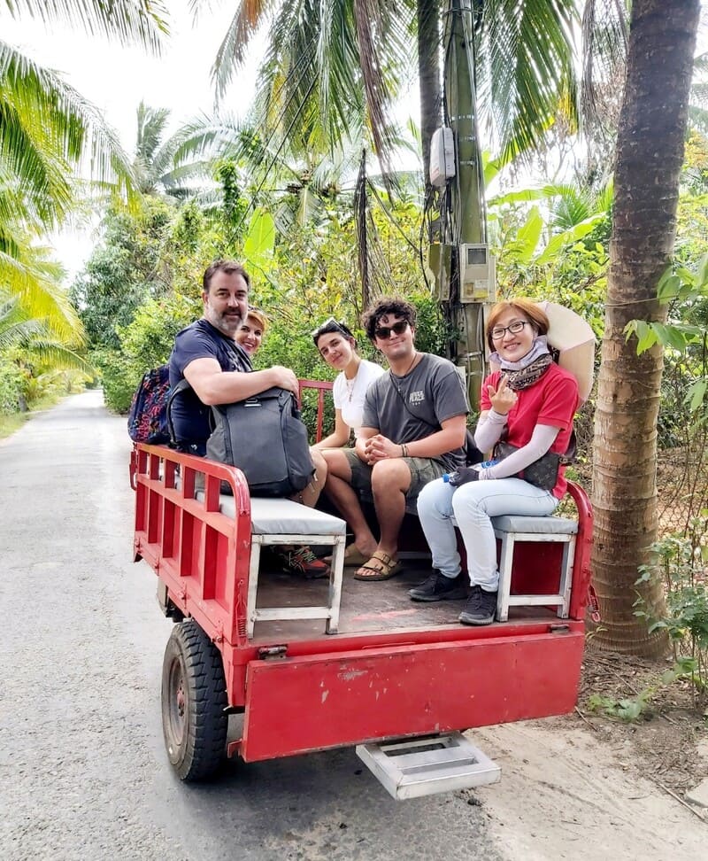
<svg viewBox="0 0 708 861"><path fill-rule="evenodd" d="M572 711L584 634L499 636L250 661L239 752L289 756Z"/></svg>

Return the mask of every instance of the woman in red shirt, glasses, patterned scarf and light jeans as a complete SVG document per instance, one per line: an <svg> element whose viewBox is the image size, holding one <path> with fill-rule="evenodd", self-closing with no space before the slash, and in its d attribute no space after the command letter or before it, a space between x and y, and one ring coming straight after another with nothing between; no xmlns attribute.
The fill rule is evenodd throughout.
<svg viewBox="0 0 708 861"><path fill-rule="evenodd" d="M548 317L529 299L492 308L487 321L489 359L501 369L482 384L474 443L489 452L503 441L506 456L481 468L459 469L448 481L439 478L419 493L418 515L433 555L433 572L409 594L413 601L466 597L454 517L465 541L472 586L459 616L463 624L494 620L499 572L490 518L550 515L566 493L565 467L558 455L568 450L580 399L575 376L551 358L548 328Z"/></svg>

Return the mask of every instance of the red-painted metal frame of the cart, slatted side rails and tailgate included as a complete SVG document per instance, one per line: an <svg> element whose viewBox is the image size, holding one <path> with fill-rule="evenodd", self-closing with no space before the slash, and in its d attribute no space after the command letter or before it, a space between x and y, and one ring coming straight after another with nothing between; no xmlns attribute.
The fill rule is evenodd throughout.
<svg viewBox="0 0 708 861"><path fill-rule="evenodd" d="M303 381L304 387L309 382ZM321 434L322 398L331 384L314 387ZM234 494L235 519L219 513L222 481ZM589 501L577 485L569 484L579 527L567 622L466 628L451 621L255 644L245 635L250 497L241 471L165 446L138 445L131 484L135 559L149 562L174 605L216 643L228 702L245 711L242 738L230 752L266 759L573 710L592 535ZM204 488L203 500L195 499L196 487ZM549 546L524 547L529 554L543 554ZM536 568L558 564L543 555L529 555L525 562L524 549L517 552L521 569L533 559ZM283 647L285 656L263 660L262 649L269 645Z"/></svg>

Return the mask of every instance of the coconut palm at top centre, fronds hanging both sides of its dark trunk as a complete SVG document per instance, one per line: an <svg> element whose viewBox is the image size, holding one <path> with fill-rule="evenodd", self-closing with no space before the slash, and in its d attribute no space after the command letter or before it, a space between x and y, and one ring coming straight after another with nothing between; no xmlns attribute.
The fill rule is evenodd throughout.
<svg viewBox="0 0 708 861"><path fill-rule="evenodd" d="M191 5L202 4L191 0ZM440 5L447 14L459 4ZM523 151L537 142L560 96L573 114L570 32L576 5L575 0L473 4L470 49L477 88L502 150ZM370 128L377 153L389 159L390 105L410 79L416 53L410 34L422 32L426 45L439 45L439 11L438 0L242 0L214 65L217 89L223 92L244 62L250 39L270 20L260 75L269 109L266 125L280 126L303 141L320 136L319 143L321 136L329 143ZM426 131L440 113L437 58L437 50L429 50L419 65Z"/></svg>

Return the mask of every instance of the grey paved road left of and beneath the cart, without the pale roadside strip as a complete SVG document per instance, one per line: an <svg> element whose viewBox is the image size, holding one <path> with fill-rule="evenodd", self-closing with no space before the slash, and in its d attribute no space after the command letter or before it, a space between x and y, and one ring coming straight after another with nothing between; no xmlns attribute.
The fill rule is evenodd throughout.
<svg viewBox="0 0 708 861"><path fill-rule="evenodd" d="M131 562L128 451L98 392L0 442L0 857L503 858L472 795L396 803L352 749L175 779L159 713L171 623Z"/></svg>

